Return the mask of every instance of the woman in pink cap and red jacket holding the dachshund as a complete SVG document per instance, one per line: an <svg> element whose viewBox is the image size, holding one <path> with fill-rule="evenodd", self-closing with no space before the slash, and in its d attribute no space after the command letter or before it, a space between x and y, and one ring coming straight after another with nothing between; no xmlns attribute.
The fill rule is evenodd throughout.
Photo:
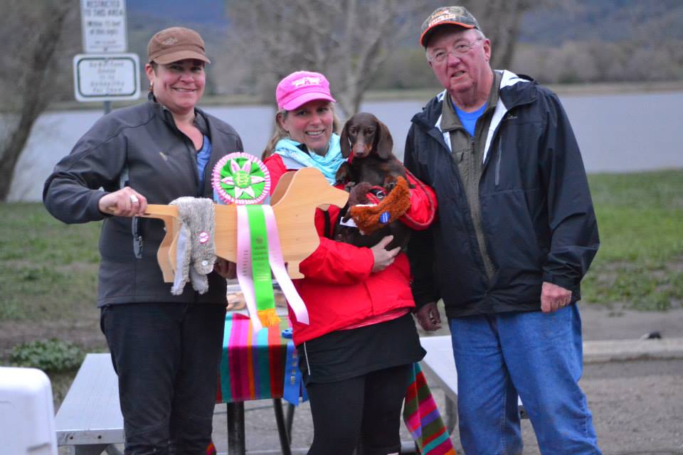
<svg viewBox="0 0 683 455"><path fill-rule="evenodd" d="M324 75L297 71L275 92L275 134L263 152L271 188L283 173L315 167L335 183L344 162L335 134L334 97ZM423 201L415 192L411 204ZM413 210L411 208L411 210ZM406 255L338 242L339 208L316 210L320 245L301 264L295 286L309 325L292 321L300 368L311 399L309 455L398 454L401 406L412 364L423 358L411 311L415 307Z"/></svg>

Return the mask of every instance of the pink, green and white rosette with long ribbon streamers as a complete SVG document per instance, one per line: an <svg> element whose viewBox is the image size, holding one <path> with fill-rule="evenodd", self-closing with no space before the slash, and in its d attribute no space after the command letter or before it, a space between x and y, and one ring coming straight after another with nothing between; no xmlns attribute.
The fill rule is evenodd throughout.
<svg viewBox="0 0 683 455"><path fill-rule="evenodd" d="M275 311L271 269L297 321L309 323L306 306L282 259L272 207L258 205L270 191L268 168L252 155L226 155L214 168L213 188L222 200L238 205L237 279L254 331L280 322Z"/></svg>

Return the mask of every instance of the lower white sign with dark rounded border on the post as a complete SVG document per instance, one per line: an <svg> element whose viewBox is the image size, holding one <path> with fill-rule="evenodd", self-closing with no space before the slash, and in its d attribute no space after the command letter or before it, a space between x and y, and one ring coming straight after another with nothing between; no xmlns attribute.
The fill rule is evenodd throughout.
<svg viewBox="0 0 683 455"><path fill-rule="evenodd" d="M78 54L73 58L76 100L116 101L140 97L137 54Z"/></svg>

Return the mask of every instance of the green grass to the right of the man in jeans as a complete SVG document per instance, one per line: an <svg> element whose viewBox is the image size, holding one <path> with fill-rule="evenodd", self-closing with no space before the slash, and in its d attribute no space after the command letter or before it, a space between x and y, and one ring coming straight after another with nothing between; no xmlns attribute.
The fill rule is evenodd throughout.
<svg viewBox="0 0 683 455"><path fill-rule="evenodd" d="M683 301L683 171L589 176L600 251L586 301L666 310Z"/></svg>

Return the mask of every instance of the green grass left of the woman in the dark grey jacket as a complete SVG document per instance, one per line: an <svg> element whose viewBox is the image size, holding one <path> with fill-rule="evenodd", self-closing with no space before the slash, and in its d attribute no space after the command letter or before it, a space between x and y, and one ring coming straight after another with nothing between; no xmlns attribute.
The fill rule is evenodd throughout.
<svg viewBox="0 0 683 455"><path fill-rule="evenodd" d="M0 204L0 232L0 321L92 311L100 223L65 225L39 203L8 203Z"/></svg>

